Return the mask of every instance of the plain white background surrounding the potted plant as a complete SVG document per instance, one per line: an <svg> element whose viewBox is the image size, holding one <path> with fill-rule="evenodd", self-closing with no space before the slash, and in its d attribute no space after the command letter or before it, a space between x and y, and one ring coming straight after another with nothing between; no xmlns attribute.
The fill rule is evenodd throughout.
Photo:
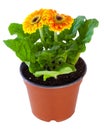
<svg viewBox="0 0 104 130"><path fill-rule="evenodd" d="M103 0L3 0L0 3L0 130L103 130L104 129L104 6ZM53 8L72 17L97 18L92 41L81 56L87 73L80 86L74 115L62 122L44 122L31 112L26 87L19 73L21 61L3 40L8 26L21 23L31 12Z"/></svg>

